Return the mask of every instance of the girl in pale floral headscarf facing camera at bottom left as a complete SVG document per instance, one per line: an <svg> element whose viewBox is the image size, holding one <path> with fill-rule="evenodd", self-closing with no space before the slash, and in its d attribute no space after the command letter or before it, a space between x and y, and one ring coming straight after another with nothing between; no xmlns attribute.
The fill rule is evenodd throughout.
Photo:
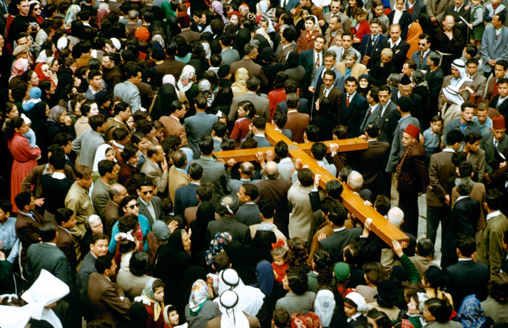
<svg viewBox="0 0 508 328"><path fill-rule="evenodd" d="M164 282L160 279L150 278L141 292L141 302L145 306L148 318L146 325L160 327L164 325L165 315L162 315L164 307ZM177 314L178 315L178 314ZM176 320L178 324L178 319ZM170 325L172 327L172 325Z"/></svg>

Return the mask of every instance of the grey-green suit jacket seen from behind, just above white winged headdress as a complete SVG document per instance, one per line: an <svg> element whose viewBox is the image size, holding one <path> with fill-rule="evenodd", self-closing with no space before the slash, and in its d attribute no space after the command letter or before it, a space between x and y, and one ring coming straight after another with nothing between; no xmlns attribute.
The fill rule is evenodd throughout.
<svg viewBox="0 0 508 328"><path fill-rule="evenodd" d="M71 267L65 254L56 246L48 243L32 244L28 247L23 276L28 282L33 283L39 277L42 269L72 287Z"/></svg>

